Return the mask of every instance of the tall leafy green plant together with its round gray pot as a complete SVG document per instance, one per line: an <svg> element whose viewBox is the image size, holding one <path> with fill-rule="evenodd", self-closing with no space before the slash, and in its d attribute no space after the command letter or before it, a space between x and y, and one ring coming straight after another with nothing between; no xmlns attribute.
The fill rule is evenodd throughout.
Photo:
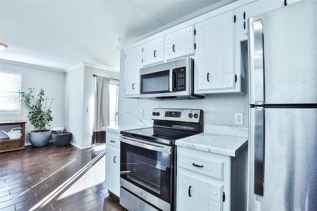
<svg viewBox="0 0 317 211"><path fill-rule="evenodd" d="M34 126L33 131L29 131L29 140L32 146L42 147L46 146L50 139L52 131L46 129L46 125L53 120L51 106L53 99L44 98L44 90L41 88L38 98L35 99L32 95L34 88L28 88L29 93L19 92L21 94L21 101L29 110L27 118ZM52 100L50 106L47 107L47 101ZM42 103L45 103L43 106Z"/></svg>

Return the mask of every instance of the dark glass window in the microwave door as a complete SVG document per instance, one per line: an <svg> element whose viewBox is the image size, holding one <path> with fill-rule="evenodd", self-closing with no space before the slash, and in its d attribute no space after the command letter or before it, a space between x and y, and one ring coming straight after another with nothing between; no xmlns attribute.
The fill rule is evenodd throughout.
<svg viewBox="0 0 317 211"><path fill-rule="evenodd" d="M169 70L141 75L141 94L169 92Z"/></svg>

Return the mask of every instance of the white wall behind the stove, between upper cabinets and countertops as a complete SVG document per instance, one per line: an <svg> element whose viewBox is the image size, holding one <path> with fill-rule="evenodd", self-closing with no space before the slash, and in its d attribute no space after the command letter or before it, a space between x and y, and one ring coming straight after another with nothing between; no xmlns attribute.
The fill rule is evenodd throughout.
<svg viewBox="0 0 317 211"><path fill-rule="evenodd" d="M121 50L120 78L124 78L124 51ZM123 80L120 87L124 87ZM139 117L139 111L144 110L144 118L150 120L153 108L190 108L204 111L204 124L244 126L248 127L248 94L227 93L208 94L201 100L149 100L124 98L123 88L119 93L119 125L133 125ZM124 116L124 111L130 109L130 117ZM234 113L244 113L244 125L234 124Z"/></svg>

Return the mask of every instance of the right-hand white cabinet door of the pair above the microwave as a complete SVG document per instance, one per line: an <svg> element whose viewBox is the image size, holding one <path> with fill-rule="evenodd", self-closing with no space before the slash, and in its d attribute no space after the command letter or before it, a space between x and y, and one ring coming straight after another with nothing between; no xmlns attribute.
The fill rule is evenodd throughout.
<svg viewBox="0 0 317 211"><path fill-rule="evenodd" d="M164 37L166 61L193 55L194 49L194 27L189 26Z"/></svg>

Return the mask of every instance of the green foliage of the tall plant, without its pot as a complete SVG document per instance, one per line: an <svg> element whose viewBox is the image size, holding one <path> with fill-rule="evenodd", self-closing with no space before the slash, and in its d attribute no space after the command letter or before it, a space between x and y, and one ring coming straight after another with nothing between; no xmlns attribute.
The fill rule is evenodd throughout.
<svg viewBox="0 0 317 211"><path fill-rule="evenodd" d="M38 94L38 98L35 99L32 93L34 92L34 88L28 88L29 93L26 92L19 92L21 94L21 101L29 110L27 118L29 119L30 123L34 126L35 130L45 131L46 125L53 120L52 118L52 111L51 106L53 99L44 98L44 90L41 88ZM51 105L47 107L47 101L51 101ZM43 106L42 103L45 102Z"/></svg>

